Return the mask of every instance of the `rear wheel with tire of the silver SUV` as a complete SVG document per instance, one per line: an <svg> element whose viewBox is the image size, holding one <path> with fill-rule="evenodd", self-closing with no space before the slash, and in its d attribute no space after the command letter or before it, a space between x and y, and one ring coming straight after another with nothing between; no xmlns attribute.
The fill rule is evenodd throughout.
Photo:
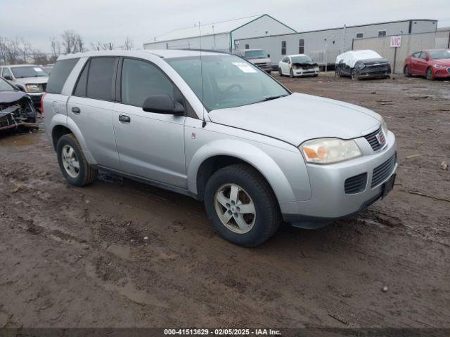
<svg viewBox="0 0 450 337"><path fill-rule="evenodd" d="M89 185L96 178L96 170L89 166L82 147L72 133L62 136L56 145L58 164L65 180L70 185Z"/></svg>

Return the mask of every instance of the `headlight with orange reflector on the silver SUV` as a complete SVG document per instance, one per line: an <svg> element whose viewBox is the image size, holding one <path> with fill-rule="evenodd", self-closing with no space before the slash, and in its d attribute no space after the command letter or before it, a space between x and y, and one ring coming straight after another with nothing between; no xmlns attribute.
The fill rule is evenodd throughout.
<svg viewBox="0 0 450 337"><path fill-rule="evenodd" d="M300 145L304 159L314 164L332 164L361 157L362 153L354 140L322 138L308 140Z"/></svg>

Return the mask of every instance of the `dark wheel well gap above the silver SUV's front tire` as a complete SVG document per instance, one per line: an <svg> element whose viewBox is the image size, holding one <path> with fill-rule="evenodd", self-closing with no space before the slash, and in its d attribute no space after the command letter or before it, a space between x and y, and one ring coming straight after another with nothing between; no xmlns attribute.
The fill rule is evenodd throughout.
<svg viewBox="0 0 450 337"><path fill-rule="evenodd" d="M197 171L197 199L203 200L205 187L210 179L210 177L219 169L223 169L225 166L233 165L233 164L245 164L247 166L250 166L252 169L257 171L263 179L266 180L266 178L262 175L261 172L251 164L248 164L247 161L244 161L242 159L232 157L232 156L214 156L206 159L203 161L203 163L200 165ZM267 180L266 180L267 181ZM267 182L270 186L270 183ZM273 192L273 189L272 189ZM275 193L274 193L275 194Z"/></svg>

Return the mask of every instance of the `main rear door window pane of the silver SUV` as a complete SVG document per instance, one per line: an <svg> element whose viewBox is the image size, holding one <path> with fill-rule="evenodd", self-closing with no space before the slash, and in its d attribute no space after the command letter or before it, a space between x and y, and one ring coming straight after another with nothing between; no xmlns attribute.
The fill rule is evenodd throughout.
<svg viewBox="0 0 450 337"><path fill-rule="evenodd" d="M113 100L113 78L117 58L92 58L87 74L86 97Z"/></svg>

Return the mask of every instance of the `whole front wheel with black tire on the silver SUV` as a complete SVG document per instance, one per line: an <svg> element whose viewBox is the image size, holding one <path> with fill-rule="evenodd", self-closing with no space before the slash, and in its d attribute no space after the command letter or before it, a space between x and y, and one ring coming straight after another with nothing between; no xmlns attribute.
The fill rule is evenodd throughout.
<svg viewBox="0 0 450 337"><path fill-rule="evenodd" d="M262 244L281 223L269 183L245 164L226 166L211 176L205 187L205 209L219 235L239 246Z"/></svg>

